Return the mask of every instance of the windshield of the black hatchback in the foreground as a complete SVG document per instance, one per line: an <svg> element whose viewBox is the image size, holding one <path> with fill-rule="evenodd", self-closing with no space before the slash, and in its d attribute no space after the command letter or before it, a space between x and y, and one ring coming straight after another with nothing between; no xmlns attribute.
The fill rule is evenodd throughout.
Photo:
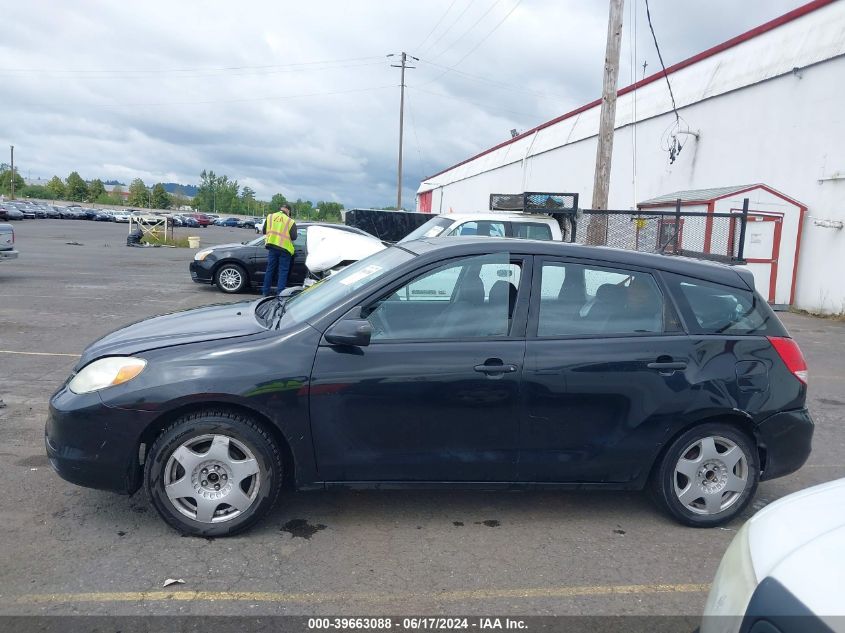
<svg viewBox="0 0 845 633"><path fill-rule="evenodd" d="M413 254L395 246L379 251L329 275L284 304L268 301L259 305L256 318L265 327L275 328L280 327L282 317L295 323L308 321L412 257Z"/></svg>

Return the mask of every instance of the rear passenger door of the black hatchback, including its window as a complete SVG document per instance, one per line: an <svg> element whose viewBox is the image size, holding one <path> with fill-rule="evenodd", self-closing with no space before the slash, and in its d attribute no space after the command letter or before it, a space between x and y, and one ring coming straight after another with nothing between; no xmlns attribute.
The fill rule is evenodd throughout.
<svg viewBox="0 0 845 633"><path fill-rule="evenodd" d="M625 483L690 404L694 360L651 271L537 258L520 479Z"/></svg>

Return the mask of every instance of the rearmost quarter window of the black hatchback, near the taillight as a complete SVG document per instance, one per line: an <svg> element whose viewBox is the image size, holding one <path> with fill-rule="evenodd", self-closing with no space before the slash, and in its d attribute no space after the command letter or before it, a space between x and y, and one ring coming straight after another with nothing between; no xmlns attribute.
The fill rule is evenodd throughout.
<svg viewBox="0 0 845 633"><path fill-rule="evenodd" d="M694 334L787 335L756 292L681 275L667 274L666 280Z"/></svg>

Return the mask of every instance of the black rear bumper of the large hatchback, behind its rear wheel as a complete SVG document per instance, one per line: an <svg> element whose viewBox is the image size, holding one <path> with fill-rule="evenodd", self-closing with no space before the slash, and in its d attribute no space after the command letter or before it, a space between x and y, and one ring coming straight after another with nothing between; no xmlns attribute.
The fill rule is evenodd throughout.
<svg viewBox="0 0 845 633"><path fill-rule="evenodd" d="M782 411L757 426L757 439L766 454L761 481L794 473L812 450L815 425L807 409Z"/></svg>

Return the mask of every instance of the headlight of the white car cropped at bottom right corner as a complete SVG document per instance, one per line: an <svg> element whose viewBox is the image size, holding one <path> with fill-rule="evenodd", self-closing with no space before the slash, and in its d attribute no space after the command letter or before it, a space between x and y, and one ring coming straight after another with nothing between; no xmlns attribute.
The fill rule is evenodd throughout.
<svg viewBox="0 0 845 633"><path fill-rule="evenodd" d="M710 595L707 596L704 606L701 633L738 631L756 588L757 574L751 562L746 523L728 546L716 571Z"/></svg>

